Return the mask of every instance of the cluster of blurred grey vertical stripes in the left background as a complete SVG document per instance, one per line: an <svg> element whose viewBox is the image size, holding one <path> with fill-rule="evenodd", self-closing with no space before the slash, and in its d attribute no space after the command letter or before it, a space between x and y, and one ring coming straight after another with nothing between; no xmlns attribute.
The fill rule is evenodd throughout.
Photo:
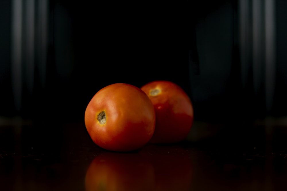
<svg viewBox="0 0 287 191"><path fill-rule="evenodd" d="M38 72L38 80L44 88L48 1L13 0L11 5L11 85L14 106L19 112L25 88L32 97L35 72Z"/></svg>

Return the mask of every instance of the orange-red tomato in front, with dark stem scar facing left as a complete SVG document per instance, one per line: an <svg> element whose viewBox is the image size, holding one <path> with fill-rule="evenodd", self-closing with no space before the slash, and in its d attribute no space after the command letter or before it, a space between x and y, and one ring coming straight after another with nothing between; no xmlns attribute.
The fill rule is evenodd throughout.
<svg viewBox="0 0 287 191"><path fill-rule="evenodd" d="M99 90L85 111L87 131L98 146L110 151L132 151L151 139L155 111L138 87L116 83Z"/></svg>

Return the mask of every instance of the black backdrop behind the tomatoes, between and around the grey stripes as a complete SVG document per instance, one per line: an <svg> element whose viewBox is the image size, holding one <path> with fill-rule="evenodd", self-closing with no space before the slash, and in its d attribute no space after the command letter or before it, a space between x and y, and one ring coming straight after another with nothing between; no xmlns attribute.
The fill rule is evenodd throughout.
<svg viewBox="0 0 287 191"><path fill-rule="evenodd" d="M0 7L2 116L82 121L100 88L152 80L179 84L198 120L286 114L284 1L276 1L277 76L269 113L263 88L253 92L252 72L247 86L241 84L238 1L49 1L45 85L36 64L32 94L23 79L20 110L11 87L11 2Z"/></svg>

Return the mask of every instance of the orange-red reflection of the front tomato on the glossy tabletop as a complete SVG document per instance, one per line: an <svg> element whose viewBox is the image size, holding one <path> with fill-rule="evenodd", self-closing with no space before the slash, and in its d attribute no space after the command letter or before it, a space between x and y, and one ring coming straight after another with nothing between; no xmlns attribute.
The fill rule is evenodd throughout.
<svg viewBox="0 0 287 191"><path fill-rule="evenodd" d="M90 164L85 185L86 191L148 191L154 188L154 170L138 153L104 153Z"/></svg>

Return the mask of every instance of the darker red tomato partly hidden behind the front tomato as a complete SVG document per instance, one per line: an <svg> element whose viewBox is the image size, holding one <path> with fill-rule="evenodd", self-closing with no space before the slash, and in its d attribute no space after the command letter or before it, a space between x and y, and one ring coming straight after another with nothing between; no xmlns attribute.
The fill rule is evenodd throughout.
<svg viewBox="0 0 287 191"><path fill-rule="evenodd" d="M156 111L156 128L151 143L183 141L193 124L193 106L186 92L169 81L153 81L141 87Z"/></svg>

